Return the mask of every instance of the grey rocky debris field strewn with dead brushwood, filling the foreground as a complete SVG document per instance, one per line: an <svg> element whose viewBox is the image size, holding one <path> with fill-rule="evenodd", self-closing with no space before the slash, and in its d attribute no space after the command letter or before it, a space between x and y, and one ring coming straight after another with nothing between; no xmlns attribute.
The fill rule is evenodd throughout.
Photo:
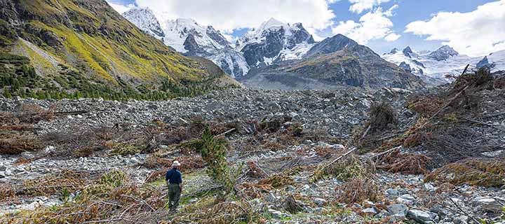
<svg viewBox="0 0 505 224"><path fill-rule="evenodd" d="M504 223L505 82L476 74L426 92L1 99L0 220Z"/></svg>

